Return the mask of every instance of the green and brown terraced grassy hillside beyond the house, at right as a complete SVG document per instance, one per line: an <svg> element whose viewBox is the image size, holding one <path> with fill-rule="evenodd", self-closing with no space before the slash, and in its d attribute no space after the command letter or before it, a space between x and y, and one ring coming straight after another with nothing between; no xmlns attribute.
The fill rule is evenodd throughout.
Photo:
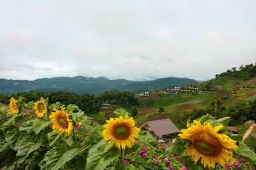
<svg viewBox="0 0 256 170"><path fill-rule="evenodd" d="M207 83L207 82L206 82ZM205 85L204 83L201 83L199 86ZM216 85L220 85L223 89L216 92L216 94L204 94L204 95L192 95L191 93L179 93L179 96L177 99L174 97L159 97L158 99L152 98L152 97L140 97L138 96L138 99L141 103L141 108L147 107L151 108L152 110L156 111L159 107L164 108L164 114L158 114L155 115L152 118L145 117L144 121L152 120L152 119L159 119L159 118L166 118L171 117L174 113L180 113L184 111L191 111L193 108L206 108L207 106L210 106L210 103L214 99L220 99L225 106L228 106L230 104L234 104L237 101L241 100L252 100L256 99L256 89L241 89L239 90L234 96L231 97L231 99L223 99L225 94L228 92L228 89L232 89L232 87L247 87L256 85L256 78L252 78L248 81L241 81L238 78L230 78L227 76L223 76L221 78L216 78L211 80L211 87L215 87ZM140 111L139 111L140 115Z"/></svg>

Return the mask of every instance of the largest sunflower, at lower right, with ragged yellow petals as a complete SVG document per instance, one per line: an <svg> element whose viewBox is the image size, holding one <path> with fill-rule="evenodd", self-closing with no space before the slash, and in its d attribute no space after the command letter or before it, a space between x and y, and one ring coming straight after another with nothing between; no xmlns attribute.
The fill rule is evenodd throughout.
<svg viewBox="0 0 256 170"><path fill-rule="evenodd" d="M230 149L237 149L236 141L229 138L226 134L218 134L218 131L223 125L212 127L209 123L202 125L194 120L195 125L182 129L180 138L191 141L191 146L188 148L188 154L192 155L192 159L198 162L202 157L201 164L204 167L214 169L215 164L219 163L225 167L225 161L231 164L235 161L232 157Z"/></svg>

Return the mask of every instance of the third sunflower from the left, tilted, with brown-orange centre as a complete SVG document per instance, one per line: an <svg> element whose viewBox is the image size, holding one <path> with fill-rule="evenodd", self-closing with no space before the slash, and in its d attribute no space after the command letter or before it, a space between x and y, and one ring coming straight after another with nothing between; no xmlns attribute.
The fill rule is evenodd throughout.
<svg viewBox="0 0 256 170"><path fill-rule="evenodd" d="M73 126L72 120L68 118L70 114L65 112L65 108L61 108L61 110L54 109L54 111L49 117L52 122L52 129L71 134Z"/></svg>

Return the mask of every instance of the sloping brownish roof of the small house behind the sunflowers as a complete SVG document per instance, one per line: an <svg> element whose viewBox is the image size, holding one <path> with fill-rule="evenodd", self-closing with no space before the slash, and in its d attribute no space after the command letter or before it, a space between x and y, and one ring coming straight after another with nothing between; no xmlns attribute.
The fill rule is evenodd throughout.
<svg viewBox="0 0 256 170"><path fill-rule="evenodd" d="M175 124L173 124L173 122L169 118L148 121L143 124L141 128L145 125L148 125L157 136L163 136L166 134L174 134L179 132L179 129L175 126Z"/></svg>

